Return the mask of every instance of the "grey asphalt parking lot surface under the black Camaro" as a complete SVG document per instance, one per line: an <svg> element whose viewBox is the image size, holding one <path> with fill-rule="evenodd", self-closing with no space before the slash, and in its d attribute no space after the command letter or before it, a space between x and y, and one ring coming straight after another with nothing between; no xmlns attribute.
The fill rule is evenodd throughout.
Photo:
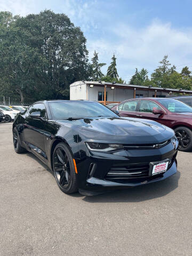
<svg viewBox="0 0 192 256"><path fill-rule="evenodd" d="M0 255L192 255L192 153L167 180L99 196L65 195L0 124Z"/></svg>

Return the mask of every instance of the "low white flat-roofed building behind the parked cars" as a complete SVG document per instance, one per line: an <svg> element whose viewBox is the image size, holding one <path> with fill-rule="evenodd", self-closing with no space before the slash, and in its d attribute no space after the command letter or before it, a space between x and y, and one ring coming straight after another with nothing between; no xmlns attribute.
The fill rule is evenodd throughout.
<svg viewBox="0 0 192 256"><path fill-rule="evenodd" d="M78 81L70 85L70 100L94 100L100 101L106 105L133 98L166 97L175 92L192 94L192 91L182 89Z"/></svg>

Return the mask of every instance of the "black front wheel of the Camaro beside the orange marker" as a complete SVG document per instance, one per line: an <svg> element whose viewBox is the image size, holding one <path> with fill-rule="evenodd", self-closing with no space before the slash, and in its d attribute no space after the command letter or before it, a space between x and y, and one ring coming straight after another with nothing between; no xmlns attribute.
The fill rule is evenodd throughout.
<svg viewBox="0 0 192 256"><path fill-rule="evenodd" d="M75 193L78 190L77 174L74 159L65 143L60 142L54 148L52 163L59 188L66 194Z"/></svg>

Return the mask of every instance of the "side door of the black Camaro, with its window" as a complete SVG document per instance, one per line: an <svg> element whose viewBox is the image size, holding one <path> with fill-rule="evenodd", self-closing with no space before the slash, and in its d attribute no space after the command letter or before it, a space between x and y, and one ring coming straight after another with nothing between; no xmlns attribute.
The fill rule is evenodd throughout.
<svg viewBox="0 0 192 256"><path fill-rule="evenodd" d="M31 116L39 111L41 117ZM46 157L44 149L44 130L46 124L46 109L43 103L31 105L25 117L24 140L27 146L37 155Z"/></svg>

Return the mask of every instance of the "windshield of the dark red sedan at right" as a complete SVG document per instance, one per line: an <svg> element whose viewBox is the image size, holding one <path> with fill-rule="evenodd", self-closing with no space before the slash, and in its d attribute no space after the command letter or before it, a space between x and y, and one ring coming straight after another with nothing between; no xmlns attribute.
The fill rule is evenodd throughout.
<svg viewBox="0 0 192 256"><path fill-rule="evenodd" d="M158 99L165 108L173 113L192 113L192 108L185 103L174 99Z"/></svg>

